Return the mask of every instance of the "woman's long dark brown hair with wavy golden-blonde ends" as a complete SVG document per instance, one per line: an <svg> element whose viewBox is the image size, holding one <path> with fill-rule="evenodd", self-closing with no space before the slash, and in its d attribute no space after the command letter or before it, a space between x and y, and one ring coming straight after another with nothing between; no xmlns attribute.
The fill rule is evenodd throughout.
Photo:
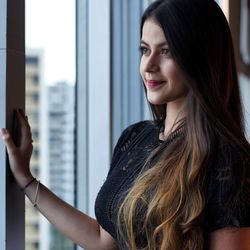
<svg viewBox="0 0 250 250"><path fill-rule="evenodd" d="M182 138L152 152L147 162L160 155L158 161L126 195L118 212L119 235L129 249L138 249L141 216L143 249L203 249L203 185L215 144L221 138L249 150L231 33L213 0L158 0L144 12L141 30L148 18L163 29L186 77L188 116ZM150 104L157 124L166 118L166 105Z"/></svg>

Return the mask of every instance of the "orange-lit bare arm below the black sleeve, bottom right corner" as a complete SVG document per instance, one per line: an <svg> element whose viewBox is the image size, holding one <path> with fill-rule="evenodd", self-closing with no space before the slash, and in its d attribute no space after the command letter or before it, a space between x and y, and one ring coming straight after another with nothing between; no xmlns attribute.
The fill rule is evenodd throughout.
<svg viewBox="0 0 250 250"><path fill-rule="evenodd" d="M250 228L223 228L212 232L209 250L250 250Z"/></svg>

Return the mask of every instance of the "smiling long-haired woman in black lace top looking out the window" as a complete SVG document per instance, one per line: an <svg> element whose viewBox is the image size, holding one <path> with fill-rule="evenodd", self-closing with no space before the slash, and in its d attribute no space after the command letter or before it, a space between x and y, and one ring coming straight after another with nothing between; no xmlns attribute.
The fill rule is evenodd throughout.
<svg viewBox="0 0 250 250"><path fill-rule="evenodd" d="M153 2L142 17L141 53L154 121L122 133L97 220L32 177L32 138L20 111L20 146L1 130L18 184L85 249L250 249L250 146L222 11L212 0Z"/></svg>

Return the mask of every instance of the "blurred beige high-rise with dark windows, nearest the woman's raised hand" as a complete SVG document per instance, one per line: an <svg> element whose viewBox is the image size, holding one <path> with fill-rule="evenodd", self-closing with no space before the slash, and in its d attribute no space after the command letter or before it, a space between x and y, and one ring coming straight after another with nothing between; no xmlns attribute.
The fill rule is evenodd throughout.
<svg viewBox="0 0 250 250"><path fill-rule="evenodd" d="M31 157L31 171L39 177L40 162L40 79L41 79L41 53L28 52L26 55L26 113L32 128L33 155ZM39 249L39 214L26 199L25 208L25 234L26 250Z"/></svg>

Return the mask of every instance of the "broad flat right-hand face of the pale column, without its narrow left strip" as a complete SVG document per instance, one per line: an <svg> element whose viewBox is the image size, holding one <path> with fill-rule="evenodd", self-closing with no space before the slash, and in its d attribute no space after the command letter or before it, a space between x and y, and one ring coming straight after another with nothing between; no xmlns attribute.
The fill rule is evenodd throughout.
<svg viewBox="0 0 250 250"><path fill-rule="evenodd" d="M110 164L110 1L88 6L88 152L89 214Z"/></svg>

